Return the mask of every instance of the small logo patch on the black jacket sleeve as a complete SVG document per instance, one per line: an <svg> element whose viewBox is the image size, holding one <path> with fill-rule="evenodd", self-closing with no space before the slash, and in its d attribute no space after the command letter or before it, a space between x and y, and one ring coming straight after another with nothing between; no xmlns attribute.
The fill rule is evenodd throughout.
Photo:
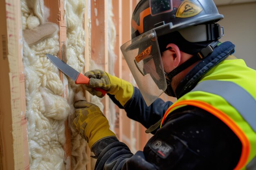
<svg viewBox="0 0 256 170"><path fill-rule="evenodd" d="M161 158L166 158L173 151L173 148L163 141L154 141L149 147Z"/></svg>

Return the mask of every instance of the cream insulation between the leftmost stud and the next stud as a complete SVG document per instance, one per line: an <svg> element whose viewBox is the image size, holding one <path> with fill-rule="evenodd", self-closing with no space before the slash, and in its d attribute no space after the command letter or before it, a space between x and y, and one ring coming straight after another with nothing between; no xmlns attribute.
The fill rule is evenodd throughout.
<svg viewBox="0 0 256 170"><path fill-rule="evenodd" d="M21 11L23 30L45 23L49 15L43 0L21 0ZM58 51L57 33L33 46L23 42L30 170L65 169L62 146L70 106L62 97L58 68L45 56Z"/></svg>

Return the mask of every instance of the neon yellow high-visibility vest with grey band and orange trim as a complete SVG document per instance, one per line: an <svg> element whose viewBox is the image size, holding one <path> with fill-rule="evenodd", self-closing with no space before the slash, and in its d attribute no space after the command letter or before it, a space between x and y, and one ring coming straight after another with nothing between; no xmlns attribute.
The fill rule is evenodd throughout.
<svg viewBox="0 0 256 170"><path fill-rule="evenodd" d="M164 114L183 106L202 108L222 120L242 143L234 170L256 170L256 71L241 59L224 60ZM161 124L161 126L162 126Z"/></svg>

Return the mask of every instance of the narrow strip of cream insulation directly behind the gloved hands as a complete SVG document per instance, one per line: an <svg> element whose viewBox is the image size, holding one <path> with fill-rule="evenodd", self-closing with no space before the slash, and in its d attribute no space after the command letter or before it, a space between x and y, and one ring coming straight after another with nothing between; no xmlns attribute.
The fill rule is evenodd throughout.
<svg viewBox="0 0 256 170"><path fill-rule="evenodd" d="M84 0L67 0L66 1L66 19L67 19L67 44L66 44L66 60L67 64L72 66L79 72L83 72L85 65L84 49L85 49L85 33L83 29L84 20ZM83 96L83 85L76 85L72 79L68 78L70 104L69 123L72 130L72 170L84 170L88 163L86 155L87 142L72 127L74 119L74 102L85 99Z"/></svg>

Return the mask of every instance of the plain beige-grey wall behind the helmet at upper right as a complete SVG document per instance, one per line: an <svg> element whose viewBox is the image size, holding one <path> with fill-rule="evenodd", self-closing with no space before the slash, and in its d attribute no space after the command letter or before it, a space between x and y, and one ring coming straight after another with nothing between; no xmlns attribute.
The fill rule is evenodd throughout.
<svg viewBox="0 0 256 170"><path fill-rule="evenodd" d="M233 42L236 45L234 55L256 69L256 2L217 8L224 15L219 24L224 26L225 35L220 41Z"/></svg>

